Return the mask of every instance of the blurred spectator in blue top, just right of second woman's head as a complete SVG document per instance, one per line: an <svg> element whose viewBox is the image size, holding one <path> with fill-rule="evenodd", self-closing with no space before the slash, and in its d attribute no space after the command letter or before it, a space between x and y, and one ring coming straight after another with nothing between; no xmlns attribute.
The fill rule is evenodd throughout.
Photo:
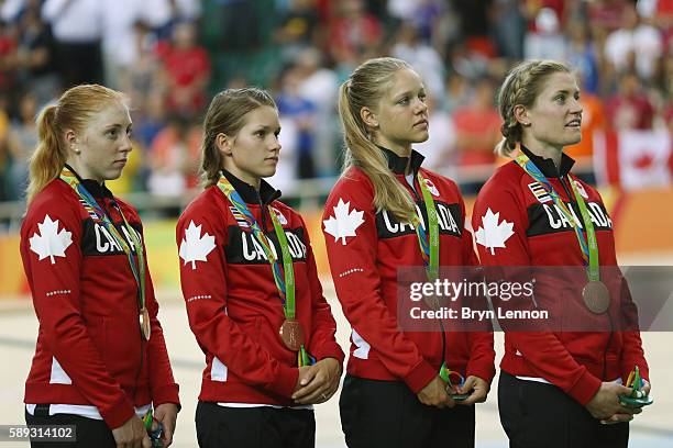
<svg viewBox="0 0 673 448"><path fill-rule="evenodd" d="M313 154L317 108L304 96L299 85L299 71L297 67L290 67L283 74L276 104L280 116L294 121L297 126L296 176L299 179L311 179L317 177Z"/></svg>

